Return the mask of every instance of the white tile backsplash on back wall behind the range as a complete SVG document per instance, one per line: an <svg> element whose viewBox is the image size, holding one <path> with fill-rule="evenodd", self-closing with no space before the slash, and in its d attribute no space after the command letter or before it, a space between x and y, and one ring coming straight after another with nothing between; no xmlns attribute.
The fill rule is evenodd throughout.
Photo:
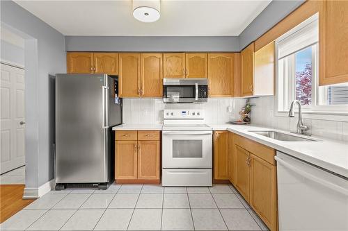
<svg viewBox="0 0 348 231"><path fill-rule="evenodd" d="M162 123L164 109L203 109L205 123L226 123L239 119L245 99L209 98L207 103L163 103L162 99L123 99L123 123ZM229 108L232 110L229 111Z"/></svg>

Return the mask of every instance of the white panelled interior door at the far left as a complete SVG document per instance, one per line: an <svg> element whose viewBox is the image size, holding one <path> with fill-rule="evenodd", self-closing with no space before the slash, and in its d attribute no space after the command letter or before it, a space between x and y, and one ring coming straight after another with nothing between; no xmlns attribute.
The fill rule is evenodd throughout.
<svg viewBox="0 0 348 231"><path fill-rule="evenodd" d="M1 64L0 156L4 173L25 164L24 69Z"/></svg>

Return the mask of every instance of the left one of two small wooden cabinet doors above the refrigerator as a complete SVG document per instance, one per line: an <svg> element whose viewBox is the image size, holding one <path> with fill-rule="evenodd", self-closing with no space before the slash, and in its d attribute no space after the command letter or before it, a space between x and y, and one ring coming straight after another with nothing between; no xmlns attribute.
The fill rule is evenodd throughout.
<svg viewBox="0 0 348 231"><path fill-rule="evenodd" d="M68 74L92 74L93 53L90 52L68 52L67 53Z"/></svg>

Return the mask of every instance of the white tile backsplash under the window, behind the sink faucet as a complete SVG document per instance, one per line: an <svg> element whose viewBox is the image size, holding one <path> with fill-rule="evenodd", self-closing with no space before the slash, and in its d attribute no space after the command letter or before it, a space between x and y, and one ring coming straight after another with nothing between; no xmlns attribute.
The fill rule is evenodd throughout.
<svg viewBox="0 0 348 231"><path fill-rule="evenodd" d="M251 99L251 124L267 128L276 128L296 132L298 117L278 117L274 115L274 96L263 96ZM308 135L316 135L348 142L348 122L303 119L303 124L309 127Z"/></svg>

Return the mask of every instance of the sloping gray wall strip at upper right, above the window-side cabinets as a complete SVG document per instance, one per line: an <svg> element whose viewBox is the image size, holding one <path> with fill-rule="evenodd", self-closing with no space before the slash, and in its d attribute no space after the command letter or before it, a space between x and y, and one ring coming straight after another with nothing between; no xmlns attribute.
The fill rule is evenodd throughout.
<svg viewBox="0 0 348 231"><path fill-rule="evenodd" d="M280 22L305 0L273 0L239 35L239 51Z"/></svg>

